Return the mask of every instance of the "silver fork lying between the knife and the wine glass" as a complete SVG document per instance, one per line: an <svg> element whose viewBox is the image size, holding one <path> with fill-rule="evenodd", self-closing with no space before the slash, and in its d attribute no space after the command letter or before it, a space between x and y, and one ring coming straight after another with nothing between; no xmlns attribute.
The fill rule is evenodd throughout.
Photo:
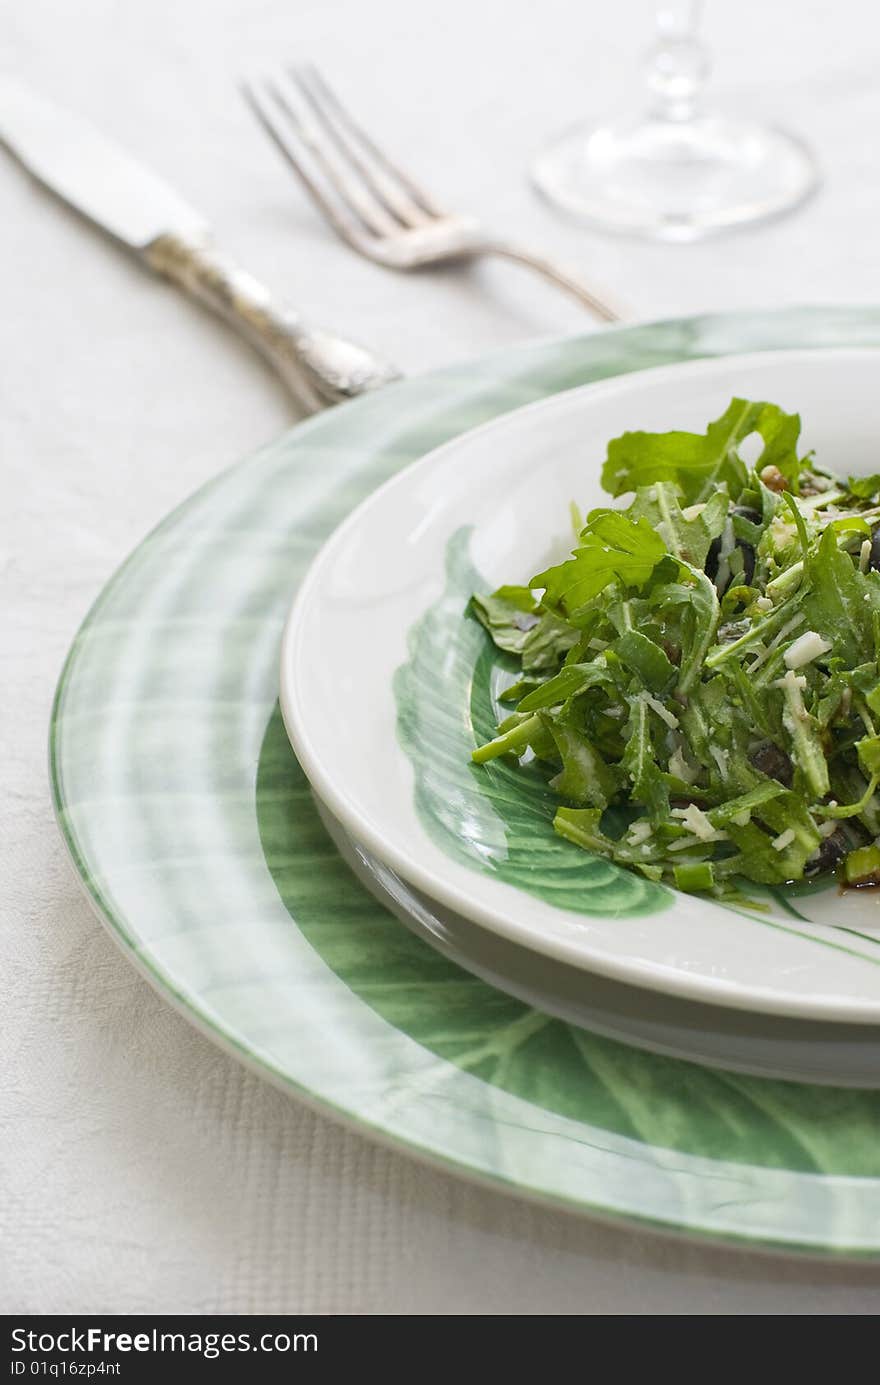
<svg viewBox="0 0 880 1385"><path fill-rule="evenodd" d="M249 78L243 90L319 209L360 255L401 270L502 255L543 274L603 321L619 321L619 313L568 269L496 240L470 216L438 208L348 114L317 68Z"/></svg>

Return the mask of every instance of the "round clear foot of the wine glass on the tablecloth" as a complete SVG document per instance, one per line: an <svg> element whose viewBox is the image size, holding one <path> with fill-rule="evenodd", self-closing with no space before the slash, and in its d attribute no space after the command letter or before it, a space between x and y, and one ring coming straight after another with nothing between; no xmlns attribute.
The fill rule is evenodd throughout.
<svg viewBox="0 0 880 1385"><path fill-rule="evenodd" d="M538 157L532 177L581 222L668 241L779 216L819 180L794 136L719 116L578 126Z"/></svg>

